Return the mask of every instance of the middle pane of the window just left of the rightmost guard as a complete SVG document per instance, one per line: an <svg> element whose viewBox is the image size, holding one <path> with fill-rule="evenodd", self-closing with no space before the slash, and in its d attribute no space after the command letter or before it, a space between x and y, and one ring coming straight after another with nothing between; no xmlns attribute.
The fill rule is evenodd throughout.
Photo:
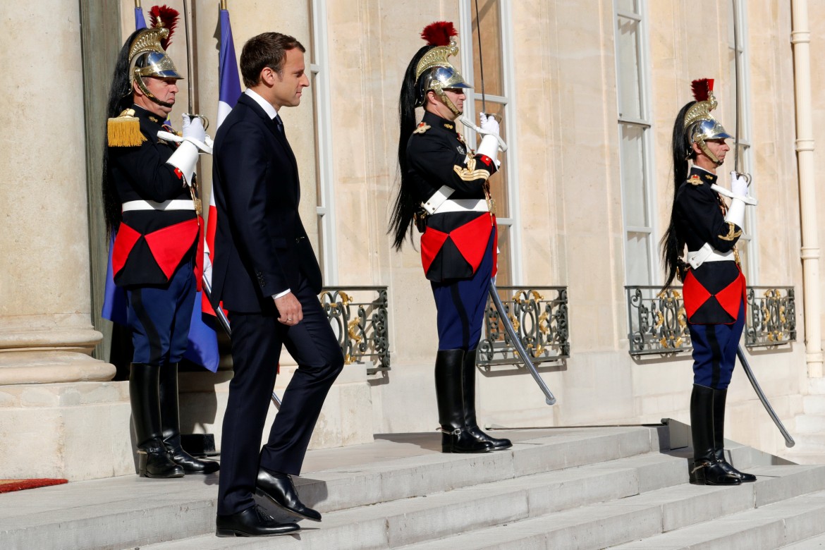
<svg viewBox="0 0 825 550"><path fill-rule="evenodd" d="M644 167L644 129L639 125L619 125L621 132L620 165L622 185L622 206L625 209L625 224L630 227L647 228L648 186L647 171Z"/></svg>

